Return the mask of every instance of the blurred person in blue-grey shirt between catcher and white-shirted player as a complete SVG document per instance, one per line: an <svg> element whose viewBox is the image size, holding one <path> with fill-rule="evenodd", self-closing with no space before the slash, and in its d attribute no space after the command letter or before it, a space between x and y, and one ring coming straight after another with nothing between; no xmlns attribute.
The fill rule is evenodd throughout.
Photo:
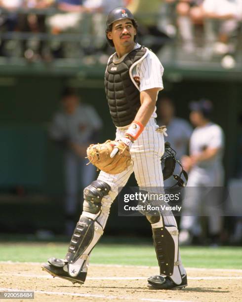
<svg viewBox="0 0 242 302"><path fill-rule="evenodd" d="M171 99L162 97L158 100L158 124L166 125L167 128L167 141L171 147L176 151L176 157L181 160L182 156L187 154L188 143L192 134L191 125L183 118L175 116L175 106ZM174 174L180 173L180 168L176 165ZM171 187L176 181L170 177L164 181L165 187Z"/></svg>

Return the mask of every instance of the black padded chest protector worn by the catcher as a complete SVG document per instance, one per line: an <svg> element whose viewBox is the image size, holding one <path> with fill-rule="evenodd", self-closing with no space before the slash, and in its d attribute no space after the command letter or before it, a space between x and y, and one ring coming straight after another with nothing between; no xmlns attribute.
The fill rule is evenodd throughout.
<svg viewBox="0 0 242 302"><path fill-rule="evenodd" d="M131 79L130 71L145 57L146 52L146 48L140 47L129 52L118 64L113 62L113 57L109 60L105 73L105 91L109 111L117 127L129 125L141 106L138 85Z"/></svg>

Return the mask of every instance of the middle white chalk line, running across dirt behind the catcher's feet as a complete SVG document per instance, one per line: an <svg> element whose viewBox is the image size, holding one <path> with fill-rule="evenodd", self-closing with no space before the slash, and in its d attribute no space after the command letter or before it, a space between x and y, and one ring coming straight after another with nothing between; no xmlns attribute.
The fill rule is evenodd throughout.
<svg viewBox="0 0 242 302"><path fill-rule="evenodd" d="M0 273L0 276L14 276L26 278L43 278L52 279L52 276L37 275L37 274L18 274L18 273ZM86 280L146 280L147 277L87 277ZM242 279L242 276L203 276L203 277L188 277L188 280L228 280Z"/></svg>

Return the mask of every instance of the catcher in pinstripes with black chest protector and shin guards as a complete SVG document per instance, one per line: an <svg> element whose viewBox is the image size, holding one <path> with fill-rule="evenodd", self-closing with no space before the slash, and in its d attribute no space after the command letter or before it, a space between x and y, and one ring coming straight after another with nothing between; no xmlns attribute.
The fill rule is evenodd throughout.
<svg viewBox="0 0 242 302"><path fill-rule="evenodd" d="M106 35L116 49L105 72L108 105L117 127L116 140L130 149L133 165L116 175L101 171L98 179L84 189L83 212L66 258L51 258L42 266L52 275L81 284L85 281L90 252L103 234L118 188L125 186L133 172L140 188L152 187L160 192L163 187L164 138L156 131L159 127L155 121L157 96L163 89L163 67L152 51L135 43L137 23L128 9L119 7L110 12ZM147 219L160 265L160 275L150 277L148 287L187 286L174 216L171 212L166 216L148 213Z"/></svg>

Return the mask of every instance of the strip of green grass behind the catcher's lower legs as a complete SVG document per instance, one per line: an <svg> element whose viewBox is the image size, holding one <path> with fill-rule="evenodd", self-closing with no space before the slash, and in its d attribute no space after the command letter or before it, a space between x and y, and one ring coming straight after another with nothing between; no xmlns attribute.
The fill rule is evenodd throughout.
<svg viewBox="0 0 242 302"><path fill-rule="evenodd" d="M103 238L91 254L93 264L157 265L150 241ZM63 258L68 242L0 242L0 261L45 262L49 257ZM188 267L242 269L242 247L181 247Z"/></svg>

